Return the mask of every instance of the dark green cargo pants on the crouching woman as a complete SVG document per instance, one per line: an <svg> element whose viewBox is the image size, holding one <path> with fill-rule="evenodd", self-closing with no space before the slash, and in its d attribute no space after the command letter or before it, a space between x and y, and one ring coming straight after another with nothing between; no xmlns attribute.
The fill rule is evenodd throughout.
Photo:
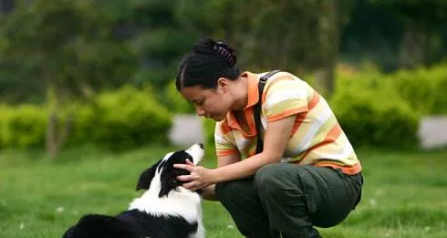
<svg viewBox="0 0 447 238"><path fill-rule="evenodd" d="M216 184L217 199L249 238L321 237L359 203L363 178L311 165L266 165L254 177Z"/></svg>

